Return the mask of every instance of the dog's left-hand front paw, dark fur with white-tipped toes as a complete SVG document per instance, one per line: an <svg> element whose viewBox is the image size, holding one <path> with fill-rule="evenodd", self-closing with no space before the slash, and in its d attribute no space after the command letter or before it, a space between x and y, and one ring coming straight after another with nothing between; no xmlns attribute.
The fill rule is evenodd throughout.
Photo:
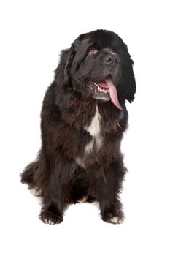
<svg viewBox="0 0 170 256"><path fill-rule="evenodd" d="M46 224L54 225L61 223L63 221L63 216L61 214L53 214L50 211L42 211L39 219Z"/></svg>

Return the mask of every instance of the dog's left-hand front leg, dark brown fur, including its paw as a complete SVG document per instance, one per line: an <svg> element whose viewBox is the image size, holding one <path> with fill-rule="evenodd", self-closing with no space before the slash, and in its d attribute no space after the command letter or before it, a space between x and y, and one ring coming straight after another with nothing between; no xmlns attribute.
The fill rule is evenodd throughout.
<svg viewBox="0 0 170 256"><path fill-rule="evenodd" d="M50 178L42 197L42 211L39 216L43 222L56 224L63 221L63 210L69 199L69 181L73 171L72 163L61 156L56 159L55 167L51 167Z"/></svg>

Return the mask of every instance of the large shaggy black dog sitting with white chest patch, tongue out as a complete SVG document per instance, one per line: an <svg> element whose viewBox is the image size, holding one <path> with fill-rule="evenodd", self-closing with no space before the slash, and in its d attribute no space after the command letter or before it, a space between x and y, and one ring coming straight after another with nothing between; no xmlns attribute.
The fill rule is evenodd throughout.
<svg viewBox="0 0 170 256"><path fill-rule="evenodd" d="M136 91L132 66L112 31L81 34L62 51L42 106L42 148L21 174L42 196L43 222L62 222L66 204L93 200L105 222L123 221L120 143L128 123L125 100L132 102Z"/></svg>

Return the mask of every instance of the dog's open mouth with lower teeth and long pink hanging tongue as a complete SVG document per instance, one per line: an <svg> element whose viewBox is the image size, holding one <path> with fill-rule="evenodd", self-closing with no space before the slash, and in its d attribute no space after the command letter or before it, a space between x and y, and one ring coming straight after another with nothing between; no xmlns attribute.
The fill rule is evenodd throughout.
<svg viewBox="0 0 170 256"><path fill-rule="evenodd" d="M101 80L99 83L90 81L89 86L93 91L94 98L104 100L110 99L118 109L123 110L117 97L116 86L112 82L112 78L110 76L107 76L107 78L104 78L104 80Z"/></svg>

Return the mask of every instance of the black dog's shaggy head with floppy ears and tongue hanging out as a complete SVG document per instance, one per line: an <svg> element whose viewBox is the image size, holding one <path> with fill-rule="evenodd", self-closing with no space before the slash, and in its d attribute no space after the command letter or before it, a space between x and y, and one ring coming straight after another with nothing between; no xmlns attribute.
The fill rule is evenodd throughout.
<svg viewBox="0 0 170 256"><path fill-rule="evenodd" d="M62 71L63 86L85 97L111 100L120 110L121 102L134 99L133 61L123 40L112 31L81 34L69 50L63 50L59 66L55 79Z"/></svg>

